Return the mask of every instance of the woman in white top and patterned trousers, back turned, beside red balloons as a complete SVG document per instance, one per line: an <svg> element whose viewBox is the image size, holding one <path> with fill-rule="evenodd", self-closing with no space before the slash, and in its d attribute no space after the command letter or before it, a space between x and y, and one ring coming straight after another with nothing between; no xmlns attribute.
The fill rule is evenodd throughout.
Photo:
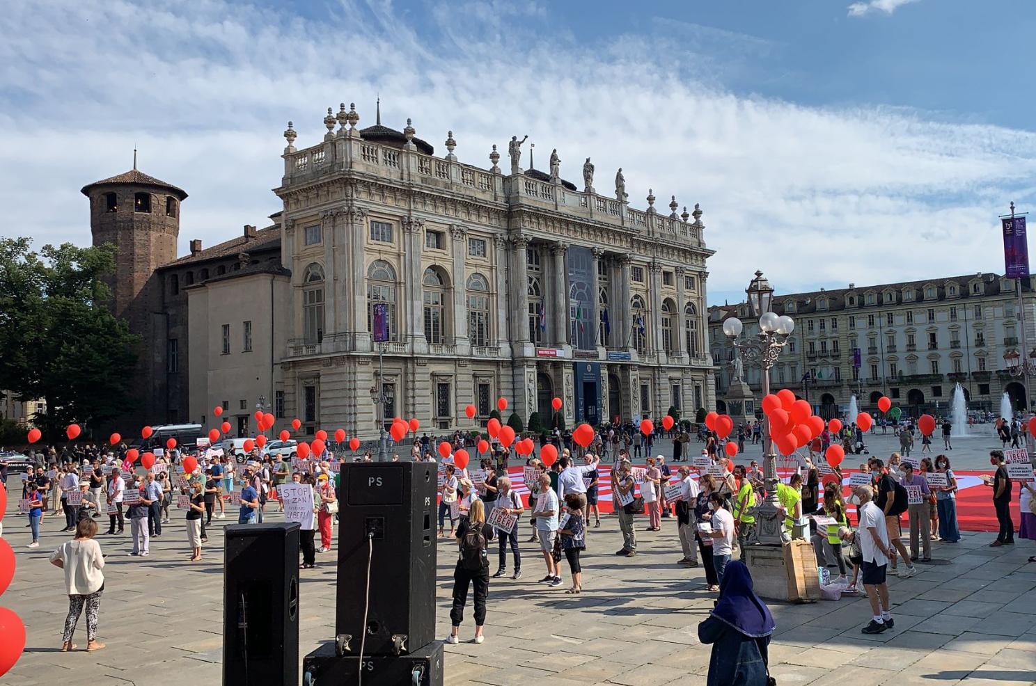
<svg viewBox="0 0 1036 686"><path fill-rule="evenodd" d="M97 523L92 518L80 519L76 526L76 538L61 544L51 555L51 564L65 572L65 592L68 594L68 617L65 618L61 652L76 650L71 636L76 632L79 616L86 605L87 651L100 650L97 643L97 610L100 608L100 594L105 590L105 556L93 537L97 534Z"/></svg>

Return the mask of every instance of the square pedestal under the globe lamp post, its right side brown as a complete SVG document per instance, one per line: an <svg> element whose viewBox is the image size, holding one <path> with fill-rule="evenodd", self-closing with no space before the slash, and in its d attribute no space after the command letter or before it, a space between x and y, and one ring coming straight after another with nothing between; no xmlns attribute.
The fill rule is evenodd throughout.
<svg viewBox="0 0 1036 686"><path fill-rule="evenodd" d="M810 541L785 541L779 546L748 545L745 564L752 574L753 589L761 598L790 602L821 599L816 555Z"/></svg>

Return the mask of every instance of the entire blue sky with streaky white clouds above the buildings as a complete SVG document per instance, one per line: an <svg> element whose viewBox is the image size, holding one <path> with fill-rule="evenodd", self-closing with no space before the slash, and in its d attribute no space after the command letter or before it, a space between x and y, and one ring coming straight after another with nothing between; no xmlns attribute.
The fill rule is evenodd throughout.
<svg viewBox="0 0 1036 686"><path fill-rule="evenodd" d="M783 292L1002 271L997 215L1036 196L1034 29L1030 0L8 0L0 235L89 243L79 189L135 145L191 195L181 251L265 226L287 121L312 145L380 93L462 161L528 133L568 178L623 167L636 207L700 203L713 303L757 268Z"/></svg>

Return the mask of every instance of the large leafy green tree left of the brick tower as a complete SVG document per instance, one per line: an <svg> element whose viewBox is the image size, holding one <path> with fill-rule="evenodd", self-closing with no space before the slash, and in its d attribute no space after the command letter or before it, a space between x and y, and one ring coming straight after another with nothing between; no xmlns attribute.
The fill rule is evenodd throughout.
<svg viewBox="0 0 1036 686"><path fill-rule="evenodd" d="M49 439L135 407L140 338L108 309L103 280L115 253L111 244L70 243L36 253L28 238L0 238L0 388L47 401L32 421Z"/></svg>

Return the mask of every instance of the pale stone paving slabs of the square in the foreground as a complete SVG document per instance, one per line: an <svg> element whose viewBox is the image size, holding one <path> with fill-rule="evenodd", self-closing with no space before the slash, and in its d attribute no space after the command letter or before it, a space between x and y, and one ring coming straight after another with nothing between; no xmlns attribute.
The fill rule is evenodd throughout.
<svg viewBox="0 0 1036 686"><path fill-rule="evenodd" d="M25 518L8 509L4 536L16 549L18 571L0 605L21 615L28 642L0 684L220 684L222 533L210 529L204 560L190 563L182 518L174 514L174 524L153 539L149 558L128 557L128 533L98 537L109 556L98 636L108 648L66 655L57 649L67 598L61 571L47 561L66 536L55 531L63 518L49 516L40 548L28 550ZM645 524L638 521L638 528ZM527 533L527 518L522 525ZM538 584L542 557L523 542L523 577L492 580L486 642L447 647L445 683L703 684L710 647L698 643L697 624L716 594L704 591L700 569L675 564L682 557L675 519L664 519L661 532L637 534L638 555L626 559L611 555L622 540L614 516L606 515L600 530L591 530L584 591L578 596L566 595L566 587ZM955 545L937 543L933 556L949 564L919 565L917 576L892 578L896 627L882 634L860 633L870 616L865 599L771 604L777 621L772 675L780 686L830 684L832 679L894 686L1036 683L1036 564L1026 563L1036 549L1031 541L989 548L989 540L988 534L966 534ZM318 556L322 566L303 576L301 655L334 633L334 555ZM449 633L454 561L453 549L441 545L439 637ZM493 564L495 569L495 557ZM473 633L470 603L466 610L462 638ZM77 643L85 646L85 619Z"/></svg>

